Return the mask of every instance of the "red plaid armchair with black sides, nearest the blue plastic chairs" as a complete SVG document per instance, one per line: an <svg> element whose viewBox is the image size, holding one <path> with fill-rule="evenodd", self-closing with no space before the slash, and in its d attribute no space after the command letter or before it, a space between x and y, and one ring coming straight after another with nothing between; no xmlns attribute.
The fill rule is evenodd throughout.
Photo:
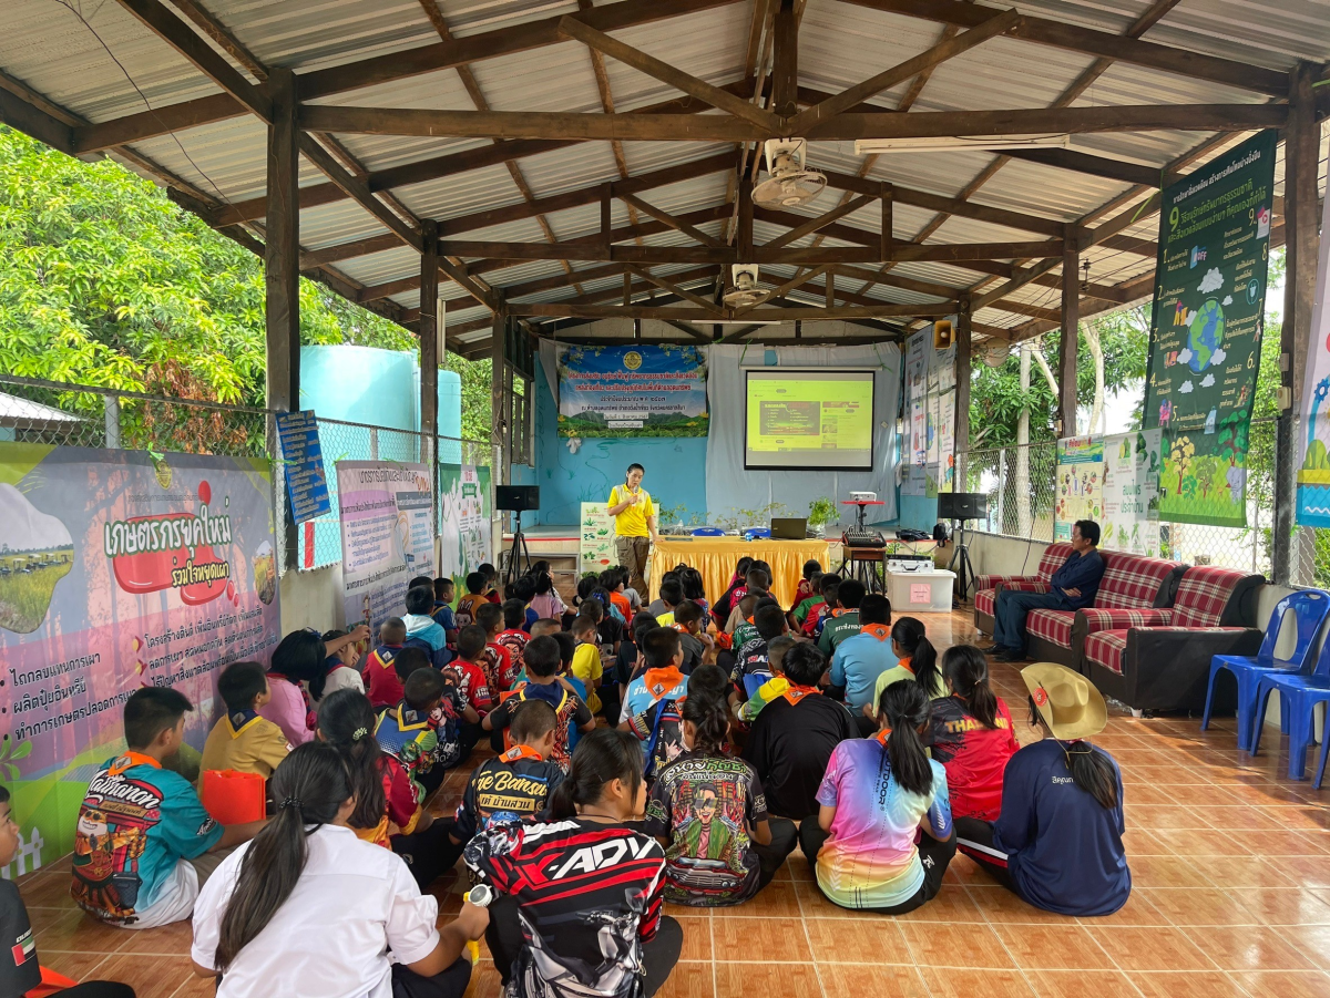
<svg viewBox="0 0 1330 998"><path fill-rule="evenodd" d="M1133 710L1204 710L1210 658L1261 647L1254 623L1262 585L1262 575L1204 566L1184 573L1172 607L1080 610L1081 672Z"/></svg>

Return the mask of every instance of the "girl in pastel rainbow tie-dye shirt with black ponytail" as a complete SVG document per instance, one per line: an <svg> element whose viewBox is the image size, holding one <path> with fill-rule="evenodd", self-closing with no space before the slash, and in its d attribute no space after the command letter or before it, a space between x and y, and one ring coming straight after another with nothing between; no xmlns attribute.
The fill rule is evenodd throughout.
<svg viewBox="0 0 1330 998"><path fill-rule="evenodd" d="M878 734L831 752L821 811L801 825L799 844L834 905L903 914L942 889L956 835L947 773L923 747L928 710L919 683L892 683L878 702Z"/></svg>

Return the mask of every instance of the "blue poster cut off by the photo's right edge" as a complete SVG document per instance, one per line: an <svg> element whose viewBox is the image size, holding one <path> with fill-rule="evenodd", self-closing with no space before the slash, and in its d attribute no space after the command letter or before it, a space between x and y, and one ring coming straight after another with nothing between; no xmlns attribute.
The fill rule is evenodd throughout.
<svg viewBox="0 0 1330 998"><path fill-rule="evenodd" d="M1330 223L1330 201L1325 207L1322 233ZM1321 239L1317 268L1317 303L1311 310L1311 343L1302 377L1302 421L1298 424L1298 522L1303 526L1330 526L1330 238Z"/></svg>

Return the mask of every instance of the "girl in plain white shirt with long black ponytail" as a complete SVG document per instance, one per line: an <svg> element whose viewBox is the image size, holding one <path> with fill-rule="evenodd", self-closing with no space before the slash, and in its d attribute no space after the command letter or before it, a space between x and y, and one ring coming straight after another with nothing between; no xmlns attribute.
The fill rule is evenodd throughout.
<svg viewBox="0 0 1330 998"><path fill-rule="evenodd" d="M271 787L277 815L194 904L194 973L218 998L462 998L485 910L463 904L435 928L439 905L406 864L347 827L355 791L331 746L299 746Z"/></svg>

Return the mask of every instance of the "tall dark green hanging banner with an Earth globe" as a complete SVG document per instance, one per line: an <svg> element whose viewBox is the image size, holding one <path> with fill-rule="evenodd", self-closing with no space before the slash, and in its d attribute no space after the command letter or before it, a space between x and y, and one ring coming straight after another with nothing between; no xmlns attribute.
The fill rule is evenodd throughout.
<svg viewBox="0 0 1330 998"><path fill-rule="evenodd" d="M1164 429L1160 518L1246 525L1275 133L1162 193L1145 428Z"/></svg>

